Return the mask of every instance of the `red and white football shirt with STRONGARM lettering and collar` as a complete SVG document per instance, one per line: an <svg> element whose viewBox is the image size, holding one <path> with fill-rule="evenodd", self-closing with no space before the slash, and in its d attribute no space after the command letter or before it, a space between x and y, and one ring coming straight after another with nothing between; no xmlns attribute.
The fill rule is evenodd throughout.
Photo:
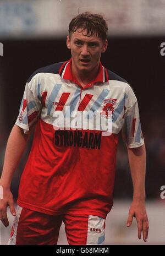
<svg viewBox="0 0 165 256"><path fill-rule="evenodd" d="M138 102L124 79L100 63L94 81L85 88L71 72L72 59L38 69L25 86L17 126L35 135L21 176L18 204L42 213L74 213L106 218L113 205L118 134L129 148L144 144ZM66 107L70 110L66 112ZM54 129L54 113L64 119L73 111L111 110L112 134L94 128ZM86 117L90 120L90 116ZM105 118L108 120L106 112Z"/></svg>

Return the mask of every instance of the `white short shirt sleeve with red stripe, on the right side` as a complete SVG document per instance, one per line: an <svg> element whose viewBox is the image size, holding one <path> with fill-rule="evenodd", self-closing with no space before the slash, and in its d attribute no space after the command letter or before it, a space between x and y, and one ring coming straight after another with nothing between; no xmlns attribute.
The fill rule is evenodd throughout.
<svg viewBox="0 0 165 256"><path fill-rule="evenodd" d="M144 144L144 138L141 130L138 101L131 88L127 92L125 102L122 137L128 148L138 148Z"/></svg>

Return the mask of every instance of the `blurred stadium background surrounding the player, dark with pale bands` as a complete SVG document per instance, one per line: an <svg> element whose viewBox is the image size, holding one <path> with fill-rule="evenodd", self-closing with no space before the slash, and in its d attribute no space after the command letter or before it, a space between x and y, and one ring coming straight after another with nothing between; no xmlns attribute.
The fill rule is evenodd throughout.
<svg viewBox="0 0 165 256"><path fill-rule="evenodd" d="M0 42L0 167L10 130L18 116L27 78L39 67L65 61L70 52L65 45L69 21L79 12L101 13L109 26L109 46L101 62L125 78L139 102L141 126L147 149L146 198L150 221L146 244L164 244L165 199L165 119L164 83L165 0L103 1L1 1ZM32 137L31 137L32 140ZM17 149L17 145L16 145ZM30 144L15 172L12 191L15 200ZM105 244L143 244L137 238L136 223L126 227L133 194L127 150L119 141L114 206L107 217ZM10 224L12 217L9 214ZM10 227L0 226L0 244L5 244ZM64 228L58 244L66 244Z"/></svg>

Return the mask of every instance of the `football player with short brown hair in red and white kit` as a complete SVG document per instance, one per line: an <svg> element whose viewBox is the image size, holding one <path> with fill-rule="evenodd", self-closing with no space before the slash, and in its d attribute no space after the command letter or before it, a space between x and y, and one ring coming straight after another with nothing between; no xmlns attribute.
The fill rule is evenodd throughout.
<svg viewBox="0 0 165 256"><path fill-rule="evenodd" d="M67 36L72 58L38 69L27 80L19 116L8 139L0 183L0 217L7 227L8 205L16 215L10 182L35 125L9 244L57 244L62 221L69 244L101 244L105 240L105 220L113 205L119 132L127 144L134 185L127 226L135 217L138 237L142 232L146 242L146 153L138 103L127 81L100 62L108 45L107 31L101 15L78 15L70 22ZM85 117L90 122L91 112L96 111L101 120L112 124L111 133L103 134L105 129L96 124L84 129L79 121L75 129L75 123L68 124L74 111L90 111ZM59 123L54 121L56 113L63 114Z"/></svg>

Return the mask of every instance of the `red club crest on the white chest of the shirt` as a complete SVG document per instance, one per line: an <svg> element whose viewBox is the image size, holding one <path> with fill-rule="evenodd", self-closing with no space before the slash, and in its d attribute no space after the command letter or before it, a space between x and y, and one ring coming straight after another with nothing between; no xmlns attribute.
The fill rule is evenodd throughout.
<svg viewBox="0 0 165 256"><path fill-rule="evenodd" d="M112 118L114 112L114 105L116 104L117 99L105 99L103 100L103 108L101 115L105 118Z"/></svg>

